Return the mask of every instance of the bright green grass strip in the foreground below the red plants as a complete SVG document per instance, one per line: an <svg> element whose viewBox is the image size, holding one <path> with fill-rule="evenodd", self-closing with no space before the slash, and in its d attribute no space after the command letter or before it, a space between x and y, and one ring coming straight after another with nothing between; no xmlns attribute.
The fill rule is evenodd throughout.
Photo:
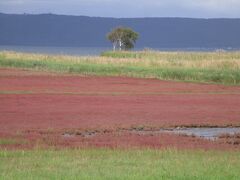
<svg viewBox="0 0 240 180"><path fill-rule="evenodd" d="M239 179L240 153L177 150L0 151L0 179Z"/></svg>

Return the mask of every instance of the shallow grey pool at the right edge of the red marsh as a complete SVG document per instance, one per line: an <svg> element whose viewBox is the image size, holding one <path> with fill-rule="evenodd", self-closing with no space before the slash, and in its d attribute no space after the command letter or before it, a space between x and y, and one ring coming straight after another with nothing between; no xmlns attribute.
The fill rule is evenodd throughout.
<svg viewBox="0 0 240 180"><path fill-rule="evenodd" d="M162 132L184 134L188 136L196 136L204 139L214 140L217 139L222 134L234 135L240 133L240 128L180 128L173 130L161 130Z"/></svg>

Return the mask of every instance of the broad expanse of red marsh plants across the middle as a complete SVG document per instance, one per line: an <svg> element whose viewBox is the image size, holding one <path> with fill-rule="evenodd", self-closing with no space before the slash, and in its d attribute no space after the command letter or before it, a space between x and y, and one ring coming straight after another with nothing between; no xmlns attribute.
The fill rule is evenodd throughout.
<svg viewBox="0 0 240 180"><path fill-rule="evenodd" d="M114 131L136 126L239 126L239 107L239 86L0 69L0 136L21 134L31 139L29 130L48 130L60 134L52 133L55 142L68 146L209 147L215 143L175 135L116 136L113 132L69 140L61 134L74 129Z"/></svg>

